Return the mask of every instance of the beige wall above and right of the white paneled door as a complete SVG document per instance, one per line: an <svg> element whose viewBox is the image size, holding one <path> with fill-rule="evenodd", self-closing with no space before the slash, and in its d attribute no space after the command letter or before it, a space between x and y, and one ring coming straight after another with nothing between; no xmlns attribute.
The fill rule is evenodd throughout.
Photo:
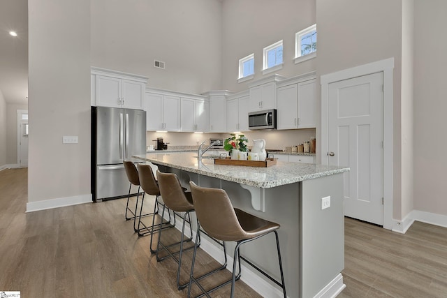
<svg viewBox="0 0 447 298"><path fill-rule="evenodd" d="M401 160L402 0L317 0L316 15L318 75L394 57L393 218L400 220L402 179L409 179Z"/></svg>

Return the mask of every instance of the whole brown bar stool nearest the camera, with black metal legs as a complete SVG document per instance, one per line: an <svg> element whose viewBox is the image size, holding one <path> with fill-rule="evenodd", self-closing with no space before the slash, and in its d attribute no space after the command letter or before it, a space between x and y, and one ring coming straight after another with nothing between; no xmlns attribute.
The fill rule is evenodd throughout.
<svg viewBox="0 0 447 298"><path fill-rule="evenodd" d="M282 288L284 297L286 296L286 286L284 284L284 274L282 270L281 253L279 249L278 232L279 224L272 223L271 221L265 221L262 218L253 216L240 209L233 208L230 202L230 198L226 191L219 188L205 188L194 184L193 181L189 182L191 186L191 193L193 195L193 203L196 209L196 215L198 218L199 226L203 228L211 237L222 241L235 241L235 252L233 259L233 274L230 281L226 281L217 285L217 287L211 290L205 290L197 278L194 278L194 262L196 260L197 246L194 246L193 263L191 265L191 277L189 280L188 297L191 296L191 285L196 283L200 290L207 297L210 297L209 293L221 288L223 285L231 283L231 296L235 295L235 281L240 279L241 265L240 260L244 260L248 265L254 267L254 269L261 272L264 276L268 277L271 281L279 285ZM277 241L277 252L279 260L279 271L281 273L281 283L268 275L265 271L254 265L252 262L240 255L240 246L249 241L261 238L267 234L274 232ZM239 272L236 274L236 266L238 263Z"/></svg>

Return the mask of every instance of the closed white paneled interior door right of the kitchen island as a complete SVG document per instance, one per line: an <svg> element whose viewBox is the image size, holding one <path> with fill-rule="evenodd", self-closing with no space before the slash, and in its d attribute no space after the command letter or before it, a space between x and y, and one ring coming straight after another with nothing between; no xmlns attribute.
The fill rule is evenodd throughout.
<svg viewBox="0 0 447 298"><path fill-rule="evenodd" d="M383 225L383 73L328 84L328 155L351 167L344 214Z"/></svg>

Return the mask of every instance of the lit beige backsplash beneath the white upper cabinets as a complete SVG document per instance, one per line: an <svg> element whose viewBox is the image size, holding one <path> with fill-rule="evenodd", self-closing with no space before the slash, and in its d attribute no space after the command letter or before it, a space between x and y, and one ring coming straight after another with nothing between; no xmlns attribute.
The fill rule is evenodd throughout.
<svg viewBox="0 0 447 298"><path fill-rule="evenodd" d="M249 147L253 145L253 140L264 139L266 149L286 149L286 147L296 146L303 142L309 141L311 137L316 137L315 129L295 129L288 131L247 131L242 134L249 139ZM170 146L197 146L206 141L209 144L210 137L225 138L229 137L228 133L156 133L153 131L146 132L146 144L154 145L157 137L163 137L163 142ZM317 140L318 148L318 140Z"/></svg>

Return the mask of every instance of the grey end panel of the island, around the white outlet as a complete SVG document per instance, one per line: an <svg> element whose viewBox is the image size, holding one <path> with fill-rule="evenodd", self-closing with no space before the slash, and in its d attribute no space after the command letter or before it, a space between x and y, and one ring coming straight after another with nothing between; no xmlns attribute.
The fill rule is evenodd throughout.
<svg viewBox="0 0 447 298"><path fill-rule="evenodd" d="M301 193L300 297L314 297L344 269L343 174L302 181Z"/></svg>

